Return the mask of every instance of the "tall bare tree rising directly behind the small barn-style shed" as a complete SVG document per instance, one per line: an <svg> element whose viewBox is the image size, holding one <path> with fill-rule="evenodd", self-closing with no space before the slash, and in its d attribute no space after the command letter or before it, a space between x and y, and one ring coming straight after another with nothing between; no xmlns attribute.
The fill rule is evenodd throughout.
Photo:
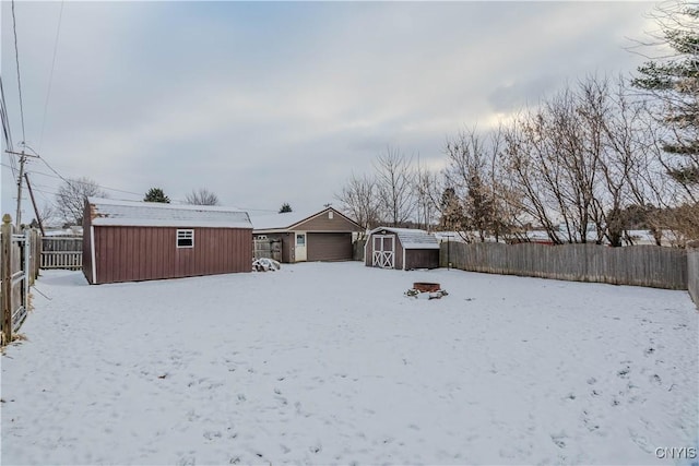
<svg viewBox="0 0 699 466"><path fill-rule="evenodd" d="M413 217L415 196L412 159L396 148L387 148L379 155L375 169L381 213L389 226L400 227Z"/></svg>

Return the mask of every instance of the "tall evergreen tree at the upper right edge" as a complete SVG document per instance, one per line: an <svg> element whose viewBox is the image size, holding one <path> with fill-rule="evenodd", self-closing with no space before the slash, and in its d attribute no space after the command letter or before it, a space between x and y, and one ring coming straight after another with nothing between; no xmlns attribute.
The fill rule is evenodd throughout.
<svg viewBox="0 0 699 466"><path fill-rule="evenodd" d="M680 0L663 4L655 19L662 45L674 52L639 67L633 86L651 93L661 105L660 120L668 138L664 151L676 155L668 175L695 201L699 195L699 3Z"/></svg>

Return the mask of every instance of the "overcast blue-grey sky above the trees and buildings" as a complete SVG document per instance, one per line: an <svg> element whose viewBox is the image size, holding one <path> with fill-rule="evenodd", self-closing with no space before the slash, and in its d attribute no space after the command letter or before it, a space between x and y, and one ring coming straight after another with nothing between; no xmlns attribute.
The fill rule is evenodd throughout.
<svg viewBox="0 0 699 466"><path fill-rule="evenodd" d="M15 3L24 139L110 198L320 210L388 146L439 168L481 129L590 73L631 73L652 2ZM11 3L2 81L23 141ZM47 98L48 96L48 98ZM3 147L4 148L4 147ZM2 212L16 186L2 154ZM61 180L28 165L39 204ZM122 192L127 191L127 192ZM134 194L130 194L132 192ZM33 218L24 202L23 219Z"/></svg>

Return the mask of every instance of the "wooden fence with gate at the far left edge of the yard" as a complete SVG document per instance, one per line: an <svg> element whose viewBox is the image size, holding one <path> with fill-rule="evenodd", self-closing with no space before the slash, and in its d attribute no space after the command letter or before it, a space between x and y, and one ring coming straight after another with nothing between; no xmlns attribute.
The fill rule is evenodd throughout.
<svg viewBox="0 0 699 466"><path fill-rule="evenodd" d="M0 242L1 344L12 342L29 309L29 286L38 276L39 236L36 230L17 232L10 215L2 217Z"/></svg>

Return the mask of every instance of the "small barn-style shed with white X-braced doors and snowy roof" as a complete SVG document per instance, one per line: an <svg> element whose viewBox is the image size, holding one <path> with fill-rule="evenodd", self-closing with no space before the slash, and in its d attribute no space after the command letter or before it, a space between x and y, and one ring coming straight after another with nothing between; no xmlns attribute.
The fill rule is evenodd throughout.
<svg viewBox="0 0 699 466"><path fill-rule="evenodd" d="M425 230L378 227L364 247L367 266L410 271L439 267L439 242Z"/></svg>

